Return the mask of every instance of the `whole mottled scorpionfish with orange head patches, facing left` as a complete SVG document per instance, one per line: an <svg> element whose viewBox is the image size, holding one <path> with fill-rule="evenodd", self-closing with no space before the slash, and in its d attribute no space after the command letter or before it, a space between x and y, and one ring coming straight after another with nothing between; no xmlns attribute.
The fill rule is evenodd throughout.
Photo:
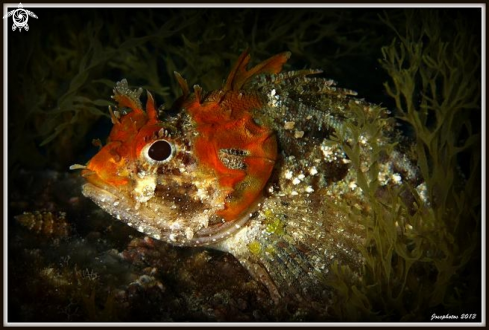
<svg viewBox="0 0 489 330"><path fill-rule="evenodd" d="M107 143L74 168L83 168L86 197L138 231L233 254L277 302L328 302L333 263L364 262L358 219L371 210L358 172L368 172L373 148L385 149L376 158L380 192L418 172L389 149L385 109L311 77L320 70L284 72L289 57L247 69L245 51L211 92L190 91L175 73L183 95L173 116L160 116L149 92L143 108L142 90L122 80ZM353 129L373 121L382 131Z"/></svg>

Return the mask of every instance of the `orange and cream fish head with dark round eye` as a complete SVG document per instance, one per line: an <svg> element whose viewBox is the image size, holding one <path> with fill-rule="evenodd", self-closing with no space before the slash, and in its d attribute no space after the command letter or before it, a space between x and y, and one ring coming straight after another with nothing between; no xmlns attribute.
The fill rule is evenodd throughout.
<svg viewBox="0 0 489 330"><path fill-rule="evenodd" d="M142 91L118 83L114 126L82 171L83 194L173 245L211 245L232 235L256 210L277 159L275 133L255 116L266 99L243 86L258 74L280 72L288 56L246 70L245 52L225 85L206 94L198 86L190 93L176 74L179 113L163 119L151 94L143 110Z"/></svg>

